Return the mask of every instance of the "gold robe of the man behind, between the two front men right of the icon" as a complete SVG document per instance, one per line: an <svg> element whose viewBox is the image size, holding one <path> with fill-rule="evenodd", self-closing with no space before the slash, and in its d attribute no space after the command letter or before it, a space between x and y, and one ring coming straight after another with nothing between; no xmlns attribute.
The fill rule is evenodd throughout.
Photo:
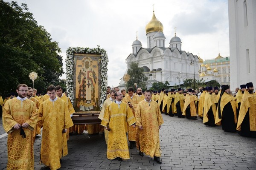
<svg viewBox="0 0 256 170"><path fill-rule="evenodd" d="M136 111L137 105L139 103L139 96L134 94L132 99L129 95L125 96L124 99L122 100L122 102L125 102L125 103L131 102L131 104L134 108L134 109L132 109L132 111L135 115L135 111ZM136 141L136 131L137 131L136 128L131 127L131 126L128 125L128 140L129 141Z"/></svg>

